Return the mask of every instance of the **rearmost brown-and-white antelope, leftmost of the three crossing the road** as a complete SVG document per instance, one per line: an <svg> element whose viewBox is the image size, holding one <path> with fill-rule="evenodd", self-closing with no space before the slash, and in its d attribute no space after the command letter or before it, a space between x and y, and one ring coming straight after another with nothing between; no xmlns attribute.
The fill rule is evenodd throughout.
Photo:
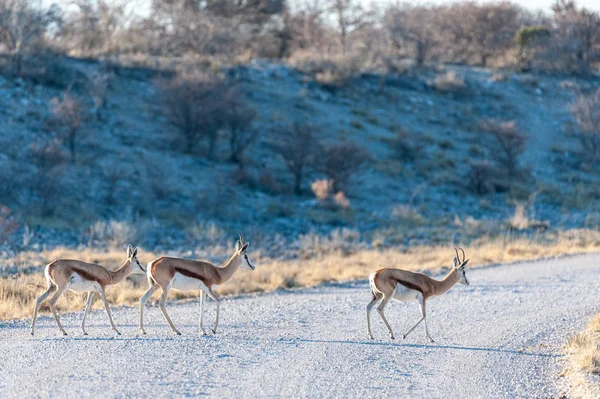
<svg viewBox="0 0 600 399"><path fill-rule="evenodd" d="M118 284L134 270L137 271L138 269L141 270L142 273L146 273L146 270L137 259L137 248L133 249L131 245L127 247L127 260L116 271L108 270L104 266L96 265L94 263L86 263L79 260L57 259L50 262L44 269L44 276L48 282L48 289L35 301L35 310L33 311L33 321L31 323L31 335L34 335L35 333L35 321L37 319L38 309L53 291L55 292L52 298L50 298L50 310L56 319L56 324L58 324L60 331L63 335L67 335L67 332L60 323L60 318L58 317L55 308L56 301L58 301L58 298L60 298L66 290L88 293L85 310L83 312L83 320L81 321L83 335L88 335L85 331L85 318L88 310L92 306L95 292L98 292L100 298L102 298L112 329L117 335L121 335L110 314L110 307L108 306L108 302L106 302L104 289L108 285Z"/></svg>

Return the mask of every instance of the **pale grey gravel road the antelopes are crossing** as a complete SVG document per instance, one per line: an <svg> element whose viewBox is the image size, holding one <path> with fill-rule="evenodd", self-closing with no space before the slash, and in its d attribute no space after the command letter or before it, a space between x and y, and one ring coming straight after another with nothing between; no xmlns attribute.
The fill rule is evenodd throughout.
<svg viewBox="0 0 600 399"><path fill-rule="evenodd" d="M241 273L246 273L242 271ZM197 302L115 309L120 337L96 310L0 324L0 397L557 397L566 338L600 311L600 255L472 270L471 285L429 302L436 343L419 326L391 341L376 312L367 339L366 281L224 299L216 336L201 336ZM118 288L113 288L118 289ZM208 320L214 320L209 302ZM83 307L83 299L82 299ZM397 336L417 303L391 303Z"/></svg>

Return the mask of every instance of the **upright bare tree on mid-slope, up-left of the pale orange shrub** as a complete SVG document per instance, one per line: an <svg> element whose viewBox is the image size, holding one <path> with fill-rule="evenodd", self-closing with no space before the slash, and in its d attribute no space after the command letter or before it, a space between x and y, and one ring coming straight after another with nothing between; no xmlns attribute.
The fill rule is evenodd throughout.
<svg viewBox="0 0 600 399"><path fill-rule="evenodd" d="M273 145L275 152L294 176L296 195L302 195L302 180L306 167L312 162L315 149L319 146L315 131L314 126L295 122L279 130Z"/></svg>

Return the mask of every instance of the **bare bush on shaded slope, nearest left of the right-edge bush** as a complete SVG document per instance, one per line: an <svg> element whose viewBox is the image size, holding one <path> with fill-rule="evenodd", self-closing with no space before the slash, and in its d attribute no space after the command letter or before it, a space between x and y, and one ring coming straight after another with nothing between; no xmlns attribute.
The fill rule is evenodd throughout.
<svg viewBox="0 0 600 399"><path fill-rule="evenodd" d="M527 141L525 135L517 128L514 121L486 120L480 124L480 128L493 139L489 153L503 169L510 184L519 171L520 157Z"/></svg>

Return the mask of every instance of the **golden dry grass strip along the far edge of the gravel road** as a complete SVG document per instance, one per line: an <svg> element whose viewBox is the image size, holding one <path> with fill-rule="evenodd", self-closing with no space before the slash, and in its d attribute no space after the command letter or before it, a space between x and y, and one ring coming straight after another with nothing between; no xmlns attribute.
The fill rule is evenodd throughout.
<svg viewBox="0 0 600 399"><path fill-rule="evenodd" d="M381 267L402 267L409 270L439 271L449 267L454 255L451 246L421 246L399 249L364 249L357 243L356 251L344 246L323 248L320 252L311 247L310 258L275 260L250 253L258 265L254 272L241 271L232 281L219 288L221 295L248 292L268 292L279 288L307 287L324 282L366 279L369 273ZM318 247L318 246L317 246ZM331 247L327 245L327 247ZM549 256L600 251L600 232L570 230L546 234L544 239L493 239L480 240L464 246L472 267L517 260L533 260ZM140 250L140 261L148 262L156 256ZM55 249L41 253L24 252L17 256L18 262L43 265L52 259L77 258L104 265L119 265L124 255L115 251L75 251ZM29 317L34 301L45 287L42 272L0 279L0 319ZM111 287L107 295L112 305L136 305L146 289L143 276L130 277L127 281ZM178 293L176 298L196 297L194 293ZM62 311L81 310L84 295L69 293L59 301ZM97 303L96 306L100 306ZM47 311L46 308L42 309Z"/></svg>

